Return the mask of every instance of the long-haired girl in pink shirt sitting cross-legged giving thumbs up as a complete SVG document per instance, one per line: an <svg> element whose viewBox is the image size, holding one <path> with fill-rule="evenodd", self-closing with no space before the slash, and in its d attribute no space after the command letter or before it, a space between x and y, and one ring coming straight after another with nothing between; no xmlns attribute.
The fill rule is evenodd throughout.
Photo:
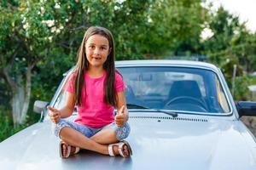
<svg viewBox="0 0 256 170"><path fill-rule="evenodd" d="M114 67L111 32L90 27L65 88L67 104L61 110L48 107L50 119L56 124L55 135L61 139L61 157L76 154L80 148L109 156L131 156L131 147L123 140L130 133L124 89L125 83ZM79 113L75 121L62 119L73 114L75 105Z"/></svg>

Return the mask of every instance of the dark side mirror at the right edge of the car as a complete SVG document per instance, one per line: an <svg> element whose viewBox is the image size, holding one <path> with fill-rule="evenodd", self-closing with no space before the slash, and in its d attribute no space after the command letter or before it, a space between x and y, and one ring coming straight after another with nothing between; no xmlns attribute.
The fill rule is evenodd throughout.
<svg viewBox="0 0 256 170"><path fill-rule="evenodd" d="M256 116L256 102L239 101L236 103L239 116Z"/></svg>

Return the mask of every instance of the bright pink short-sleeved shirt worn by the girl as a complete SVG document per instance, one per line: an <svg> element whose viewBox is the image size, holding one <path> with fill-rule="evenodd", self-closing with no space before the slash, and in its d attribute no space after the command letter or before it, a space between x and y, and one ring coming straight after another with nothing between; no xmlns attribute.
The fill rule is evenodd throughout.
<svg viewBox="0 0 256 170"><path fill-rule="evenodd" d="M65 90L71 94L74 93L75 75L71 75ZM85 88L82 89L82 105L77 106L79 116L74 122L84 124L89 127L104 127L114 121L112 105L104 102L104 80L107 73L104 72L102 77L90 77L87 72L84 74ZM119 93L125 89L125 83L119 73L115 73L115 89Z"/></svg>

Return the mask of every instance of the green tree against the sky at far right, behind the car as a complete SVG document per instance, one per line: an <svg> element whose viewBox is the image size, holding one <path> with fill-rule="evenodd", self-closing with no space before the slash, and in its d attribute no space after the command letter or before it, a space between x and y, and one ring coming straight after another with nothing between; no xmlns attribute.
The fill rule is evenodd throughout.
<svg viewBox="0 0 256 170"><path fill-rule="evenodd" d="M255 62L255 37L247 31L245 23L241 23L238 16L230 14L223 7L218 8L217 13L212 13L208 25L213 35L203 42L204 53L221 67L230 88L236 77L235 99L246 99L247 71L253 67L250 63Z"/></svg>

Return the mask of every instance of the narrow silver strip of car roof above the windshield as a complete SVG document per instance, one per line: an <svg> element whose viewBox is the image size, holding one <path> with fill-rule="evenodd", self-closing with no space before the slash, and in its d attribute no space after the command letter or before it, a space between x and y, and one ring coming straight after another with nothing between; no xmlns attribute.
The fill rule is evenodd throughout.
<svg viewBox="0 0 256 170"><path fill-rule="evenodd" d="M160 66L160 65L172 65L172 66L185 66L185 67L201 67L206 69L212 69L218 71L218 67L210 63L183 60L183 59L139 59L139 60L118 60L115 61L116 66Z"/></svg>

